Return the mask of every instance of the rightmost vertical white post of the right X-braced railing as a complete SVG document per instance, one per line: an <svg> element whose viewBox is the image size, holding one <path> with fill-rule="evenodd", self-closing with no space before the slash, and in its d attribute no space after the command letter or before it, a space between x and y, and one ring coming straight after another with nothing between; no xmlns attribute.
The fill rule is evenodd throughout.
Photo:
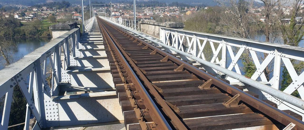
<svg viewBox="0 0 304 130"><path fill-rule="evenodd" d="M268 54L270 55L270 54ZM281 56L277 49L275 49L275 63L273 69L273 84L272 87L275 89L279 89L280 84L280 70L281 70Z"/></svg>

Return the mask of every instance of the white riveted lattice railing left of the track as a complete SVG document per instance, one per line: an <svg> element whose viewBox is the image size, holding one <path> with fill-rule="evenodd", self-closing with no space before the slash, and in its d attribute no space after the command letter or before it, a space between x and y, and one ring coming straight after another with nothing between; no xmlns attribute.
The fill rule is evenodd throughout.
<svg viewBox="0 0 304 130"><path fill-rule="evenodd" d="M0 70L0 97L5 96L1 130L8 128L9 118L14 118L9 116L14 87L20 88L27 102L26 106L20 106L26 107L25 130L29 129L31 113L36 119L33 129L50 127L48 124L59 121L58 113L53 116L45 101L58 95L60 82L69 80L65 70L77 65L73 57L80 53L79 40L80 29L72 29Z"/></svg>

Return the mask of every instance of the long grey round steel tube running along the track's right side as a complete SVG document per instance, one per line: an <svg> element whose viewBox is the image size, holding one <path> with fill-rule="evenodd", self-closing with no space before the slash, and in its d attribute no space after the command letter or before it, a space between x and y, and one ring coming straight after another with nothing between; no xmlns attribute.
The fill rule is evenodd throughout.
<svg viewBox="0 0 304 130"><path fill-rule="evenodd" d="M107 20L107 21L112 22L110 20ZM116 24L117 26L120 26L120 27L124 28L124 26L119 25L119 24L117 24L115 22L112 22L112 23ZM268 93L268 94L270 94L272 96L275 96L275 97L277 97L277 98L279 98L279 99L281 99L283 101L286 101L286 102L288 102L288 103L290 103L290 104L292 104L292 105L294 105L294 106L296 106L296 107L301 108L302 110L304 110L304 101L301 100L301 99L299 99L299 98L297 98L297 97L294 97L292 95L286 94L286 93L284 93L282 91L279 91L279 90L277 90L275 88L269 87L269 86L267 86L265 84L257 82L256 80L249 79L249 78L247 78L247 77L245 77L245 76L243 76L241 74L238 74L238 73L233 72L231 70L228 70L226 68L220 67L220 66L218 66L216 64L213 64L213 63L210 63L210 62L208 62L206 60L200 59L200 58L198 58L196 56L193 56L192 54L185 53L185 52L183 52L181 50L178 50L178 49L176 49L174 47L165 45L164 43L161 43L159 41L151 39L151 38L149 38L149 37L147 37L147 36L145 36L143 34L140 34L140 33L136 32L134 30L129 30L129 31L131 31L131 32L135 33L136 35L139 35L139 36L141 36L143 38L146 38L146 39L148 39L148 40L150 40L150 41L152 41L154 43L157 43L157 44L159 44L159 45L161 45L161 46L163 46L165 48L173 50L176 53L179 53L181 55L187 56L187 57L189 57L189 58L191 58L191 59L193 59L195 61L198 61L199 63L202 63L202 64L204 64L204 65L206 65L208 67L211 67L211 68L213 68L215 70L218 70L218 71L220 71L220 72L222 72L222 73L224 73L224 74L226 74L226 75L228 75L230 77L233 77L233 78L235 78L237 80L240 80L240 81L242 81L242 82L244 82L246 84L249 84L252 87L255 87L255 88L257 88L257 89L259 89L261 91L264 91L264 92L266 92L266 93Z"/></svg>

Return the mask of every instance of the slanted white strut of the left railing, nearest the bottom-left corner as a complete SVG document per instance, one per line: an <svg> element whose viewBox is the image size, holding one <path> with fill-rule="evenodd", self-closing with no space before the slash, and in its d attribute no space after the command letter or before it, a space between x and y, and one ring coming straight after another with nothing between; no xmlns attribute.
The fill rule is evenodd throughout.
<svg viewBox="0 0 304 130"><path fill-rule="evenodd" d="M13 90L14 89L11 89L10 91L8 91L5 94L4 108L3 108L2 121L1 121L1 125L2 125L1 129L7 129L7 127L9 126L9 113L11 111Z"/></svg>

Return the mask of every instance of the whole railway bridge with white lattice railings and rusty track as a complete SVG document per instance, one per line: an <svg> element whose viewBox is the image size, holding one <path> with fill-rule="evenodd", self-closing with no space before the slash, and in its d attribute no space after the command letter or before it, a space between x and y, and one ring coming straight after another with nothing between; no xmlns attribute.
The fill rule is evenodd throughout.
<svg viewBox="0 0 304 130"><path fill-rule="evenodd" d="M0 70L5 96L0 129L9 124L12 94L27 102L24 129L124 123L127 130L304 129L304 49L96 16ZM242 74L250 53L256 71ZM262 60L261 60L262 59ZM294 62L293 62L294 63ZM292 83L280 91L283 66ZM272 69L266 78L265 69ZM284 73L285 74L285 73Z"/></svg>

